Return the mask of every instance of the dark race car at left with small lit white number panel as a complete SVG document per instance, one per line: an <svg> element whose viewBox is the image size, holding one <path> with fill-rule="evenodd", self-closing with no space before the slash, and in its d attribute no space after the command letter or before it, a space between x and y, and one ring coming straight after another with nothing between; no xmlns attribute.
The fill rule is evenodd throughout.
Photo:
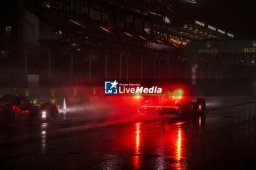
<svg viewBox="0 0 256 170"><path fill-rule="evenodd" d="M50 122L56 120L58 115L56 104L51 102L34 106L25 96L18 94L0 96L0 122L7 126L26 120Z"/></svg>

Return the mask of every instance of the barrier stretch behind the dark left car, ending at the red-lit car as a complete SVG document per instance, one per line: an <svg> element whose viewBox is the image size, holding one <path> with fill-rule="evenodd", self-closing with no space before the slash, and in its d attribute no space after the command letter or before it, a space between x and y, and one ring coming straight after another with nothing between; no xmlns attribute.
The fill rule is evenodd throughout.
<svg viewBox="0 0 256 170"><path fill-rule="evenodd" d="M102 87L68 87L68 88L1 88L0 94L20 94L29 98L35 105L51 101L60 108L64 98L67 106L97 102L104 99Z"/></svg>

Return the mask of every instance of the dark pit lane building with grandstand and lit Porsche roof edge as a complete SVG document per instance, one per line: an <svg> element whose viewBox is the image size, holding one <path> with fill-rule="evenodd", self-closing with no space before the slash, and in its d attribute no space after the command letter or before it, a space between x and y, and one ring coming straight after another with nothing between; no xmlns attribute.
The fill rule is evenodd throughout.
<svg viewBox="0 0 256 170"><path fill-rule="evenodd" d="M197 18L178 18L177 3L6 1L0 18L1 86L191 77L184 55L188 43L236 35Z"/></svg>

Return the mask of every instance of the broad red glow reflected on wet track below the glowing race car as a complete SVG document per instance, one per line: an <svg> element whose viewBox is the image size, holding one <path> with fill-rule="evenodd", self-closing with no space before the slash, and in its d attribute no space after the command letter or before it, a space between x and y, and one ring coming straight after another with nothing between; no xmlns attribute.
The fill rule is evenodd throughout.
<svg viewBox="0 0 256 170"><path fill-rule="evenodd" d="M97 147L93 152L115 153L116 161L111 162L120 169L188 169L189 129L197 128L198 122L159 120L116 125L104 131L108 138L94 143Z"/></svg>

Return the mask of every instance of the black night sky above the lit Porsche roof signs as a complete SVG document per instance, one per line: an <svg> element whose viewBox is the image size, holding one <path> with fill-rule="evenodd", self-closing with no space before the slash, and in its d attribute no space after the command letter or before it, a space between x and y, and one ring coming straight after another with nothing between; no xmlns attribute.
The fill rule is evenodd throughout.
<svg viewBox="0 0 256 170"><path fill-rule="evenodd" d="M252 0L197 0L187 4L193 16L212 26L235 34L236 37L256 39L256 6Z"/></svg>

